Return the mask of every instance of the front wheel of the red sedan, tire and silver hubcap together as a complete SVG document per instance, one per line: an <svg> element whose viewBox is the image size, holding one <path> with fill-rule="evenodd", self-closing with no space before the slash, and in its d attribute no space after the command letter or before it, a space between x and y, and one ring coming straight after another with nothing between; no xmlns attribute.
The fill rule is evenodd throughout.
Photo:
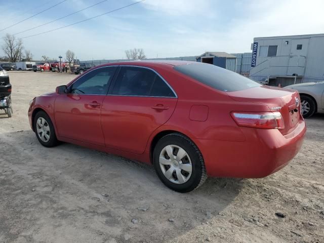
<svg viewBox="0 0 324 243"><path fill-rule="evenodd" d="M45 147L58 145L53 123L44 111L38 111L34 117L34 130L38 141Z"/></svg>

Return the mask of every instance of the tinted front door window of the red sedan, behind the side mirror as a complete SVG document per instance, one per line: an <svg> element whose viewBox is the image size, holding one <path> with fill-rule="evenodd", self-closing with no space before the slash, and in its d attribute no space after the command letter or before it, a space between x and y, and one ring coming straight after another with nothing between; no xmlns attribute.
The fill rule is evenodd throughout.
<svg viewBox="0 0 324 243"><path fill-rule="evenodd" d="M105 95L117 67L102 67L86 73L70 87L72 94Z"/></svg>

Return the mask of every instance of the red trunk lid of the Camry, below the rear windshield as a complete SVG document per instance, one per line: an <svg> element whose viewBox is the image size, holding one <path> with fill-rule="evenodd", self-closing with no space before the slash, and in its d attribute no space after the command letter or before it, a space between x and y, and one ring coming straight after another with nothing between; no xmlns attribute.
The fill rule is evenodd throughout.
<svg viewBox="0 0 324 243"><path fill-rule="evenodd" d="M277 87L261 86L248 90L227 92L236 101L264 104L269 111L279 111L285 122L285 128L279 129L283 134L289 134L298 125L301 118L300 97L296 90L282 90Z"/></svg>

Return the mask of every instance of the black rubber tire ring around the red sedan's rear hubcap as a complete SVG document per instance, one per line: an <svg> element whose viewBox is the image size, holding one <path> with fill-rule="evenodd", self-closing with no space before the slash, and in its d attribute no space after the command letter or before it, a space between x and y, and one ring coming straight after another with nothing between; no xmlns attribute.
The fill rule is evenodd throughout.
<svg viewBox="0 0 324 243"><path fill-rule="evenodd" d="M192 164L191 176L183 184L176 184L167 179L160 167L160 153L168 145L176 145L183 148L190 157ZM203 183L207 179L203 155L201 155L201 152L199 151L198 147L189 138L182 134L172 133L164 136L157 142L153 151L153 165L159 179L167 187L178 192L189 192L194 189L197 189L199 186L203 185Z"/></svg>

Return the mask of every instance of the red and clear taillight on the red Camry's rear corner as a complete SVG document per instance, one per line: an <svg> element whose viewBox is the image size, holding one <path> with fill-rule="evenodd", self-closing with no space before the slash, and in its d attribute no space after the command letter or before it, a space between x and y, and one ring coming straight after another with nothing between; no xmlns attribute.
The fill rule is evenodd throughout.
<svg viewBox="0 0 324 243"><path fill-rule="evenodd" d="M231 112L237 126L260 129L284 129L285 123L279 111L275 112Z"/></svg>

